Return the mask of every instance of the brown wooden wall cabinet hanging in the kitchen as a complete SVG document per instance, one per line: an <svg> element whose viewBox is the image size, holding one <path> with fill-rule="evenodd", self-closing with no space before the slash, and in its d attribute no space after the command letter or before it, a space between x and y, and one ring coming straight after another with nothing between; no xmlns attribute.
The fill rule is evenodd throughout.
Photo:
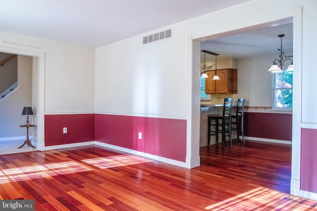
<svg viewBox="0 0 317 211"><path fill-rule="evenodd" d="M207 71L208 78L205 84L206 94L237 94L238 93L238 72L237 69L217 70L220 80L212 80L215 70Z"/></svg>

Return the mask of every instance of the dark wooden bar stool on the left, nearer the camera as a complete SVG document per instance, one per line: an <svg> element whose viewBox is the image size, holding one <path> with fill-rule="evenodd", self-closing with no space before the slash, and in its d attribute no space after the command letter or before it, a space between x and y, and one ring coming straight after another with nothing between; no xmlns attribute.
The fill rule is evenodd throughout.
<svg viewBox="0 0 317 211"><path fill-rule="evenodd" d="M208 115L208 146L210 145L210 137L216 134L216 143L218 143L218 133L222 133L222 142L224 147L227 147L226 136L229 136L230 146L232 146L231 140L231 110L232 110L232 98L224 98L223 110L221 114ZM211 124L211 120L215 121L215 124ZM219 122L220 120L220 122ZM215 126L215 130L211 130L211 126ZM219 129L221 127L221 129ZM226 133L228 135L226 135Z"/></svg>

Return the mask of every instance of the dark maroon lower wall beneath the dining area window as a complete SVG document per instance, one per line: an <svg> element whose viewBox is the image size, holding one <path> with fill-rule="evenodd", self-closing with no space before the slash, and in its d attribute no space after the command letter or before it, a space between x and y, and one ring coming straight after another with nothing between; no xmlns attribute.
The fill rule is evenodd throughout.
<svg viewBox="0 0 317 211"><path fill-rule="evenodd" d="M244 115L245 136L292 140L292 114L245 112Z"/></svg>

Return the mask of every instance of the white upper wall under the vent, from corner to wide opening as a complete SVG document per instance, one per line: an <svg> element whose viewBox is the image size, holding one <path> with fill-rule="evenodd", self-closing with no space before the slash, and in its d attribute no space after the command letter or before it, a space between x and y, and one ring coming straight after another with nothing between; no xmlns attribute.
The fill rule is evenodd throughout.
<svg viewBox="0 0 317 211"><path fill-rule="evenodd" d="M187 30L156 33L167 29L171 39L143 44L136 36L96 49L97 113L186 117Z"/></svg>

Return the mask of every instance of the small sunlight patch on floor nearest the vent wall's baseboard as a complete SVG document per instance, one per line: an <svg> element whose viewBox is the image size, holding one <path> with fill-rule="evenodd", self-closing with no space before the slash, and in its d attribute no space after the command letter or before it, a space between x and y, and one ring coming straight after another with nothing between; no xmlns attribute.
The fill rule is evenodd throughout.
<svg viewBox="0 0 317 211"><path fill-rule="evenodd" d="M83 162L93 165L100 169L108 169L113 167L122 167L133 164L141 164L151 162L153 160L142 158L136 155L118 155L106 158L93 158L82 160Z"/></svg>

